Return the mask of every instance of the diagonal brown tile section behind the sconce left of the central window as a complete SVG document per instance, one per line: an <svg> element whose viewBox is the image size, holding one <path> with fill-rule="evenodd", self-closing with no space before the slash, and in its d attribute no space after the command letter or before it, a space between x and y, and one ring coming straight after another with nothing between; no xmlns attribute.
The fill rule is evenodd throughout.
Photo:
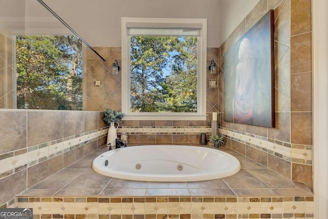
<svg viewBox="0 0 328 219"><path fill-rule="evenodd" d="M84 52L83 109L103 111L106 108L121 109L121 71L112 74L112 64L117 59L121 66L121 49L109 47L94 48L106 62L94 52Z"/></svg>

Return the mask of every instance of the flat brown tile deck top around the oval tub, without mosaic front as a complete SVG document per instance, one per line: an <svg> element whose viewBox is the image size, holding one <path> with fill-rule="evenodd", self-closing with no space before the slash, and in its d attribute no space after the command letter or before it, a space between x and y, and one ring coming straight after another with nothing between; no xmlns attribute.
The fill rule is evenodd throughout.
<svg viewBox="0 0 328 219"><path fill-rule="evenodd" d="M145 145L140 143L140 145ZM200 145L195 145L200 146ZM206 146L210 147L210 146ZM201 182L138 182L120 180L93 171L92 161L107 147L46 178L19 194L28 196L281 196L313 195L305 184L293 182L229 148L242 169L235 175Z"/></svg>

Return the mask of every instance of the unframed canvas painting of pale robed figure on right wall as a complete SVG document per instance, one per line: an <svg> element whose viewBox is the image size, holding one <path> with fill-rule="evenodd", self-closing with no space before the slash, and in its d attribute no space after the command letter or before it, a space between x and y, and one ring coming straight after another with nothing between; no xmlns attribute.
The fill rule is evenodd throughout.
<svg viewBox="0 0 328 219"><path fill-rule="evenodd" d="M224 54L224 121L274 127L273 10Z"/></svg>

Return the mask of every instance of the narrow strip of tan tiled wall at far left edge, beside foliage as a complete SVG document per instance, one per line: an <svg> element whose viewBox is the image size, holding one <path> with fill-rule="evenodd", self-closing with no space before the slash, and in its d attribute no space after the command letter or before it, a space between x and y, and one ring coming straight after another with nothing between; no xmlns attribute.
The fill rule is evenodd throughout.
<svg viewBox="0 0 328 219"><path fill-rule="evenodd" d="M0 34L0 109L14 109L12 39Z"/></svg>

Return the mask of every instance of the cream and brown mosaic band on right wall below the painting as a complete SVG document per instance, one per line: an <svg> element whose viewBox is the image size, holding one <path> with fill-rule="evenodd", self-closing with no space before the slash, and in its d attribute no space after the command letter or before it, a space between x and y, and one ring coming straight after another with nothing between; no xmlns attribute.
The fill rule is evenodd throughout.
<svg viewBox="0 0 328 219"><path fill-rule="evenodd" d="M222 127L219 128L219 133L234 141L283 158L286 161L312 165L313 146L311 145L297 145L281 142L273 140L272 138Z"/></svg>

